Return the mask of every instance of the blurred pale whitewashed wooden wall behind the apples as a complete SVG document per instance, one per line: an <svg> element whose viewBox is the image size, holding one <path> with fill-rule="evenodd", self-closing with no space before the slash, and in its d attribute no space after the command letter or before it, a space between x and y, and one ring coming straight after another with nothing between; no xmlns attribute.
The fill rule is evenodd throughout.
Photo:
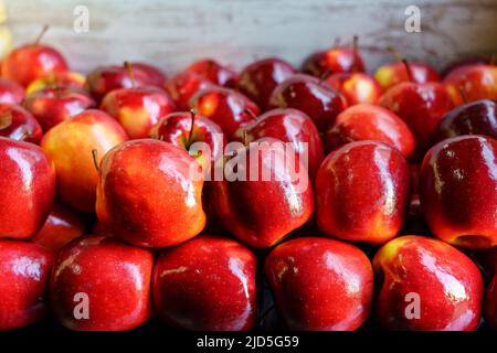
<svg viewBox="0 0 497 353"><path fill-rule="evenodd" d="M14 44L44 42L71 66L88 72L125 60L154 63L167 73L199 57L235 68L282 56L299 65L310 52L360 36L369 71L396 46L409 58L441 66L455 57L497 52L497 0L4 0ZM89 31L73 30L74 8L89 10ZM404 10L421 8L421 33L406 33Z"/></svg>

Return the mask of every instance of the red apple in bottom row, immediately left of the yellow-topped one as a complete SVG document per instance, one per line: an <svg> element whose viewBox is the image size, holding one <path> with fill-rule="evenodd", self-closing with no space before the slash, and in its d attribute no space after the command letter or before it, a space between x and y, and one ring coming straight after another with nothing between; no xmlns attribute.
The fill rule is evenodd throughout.
<svg viewBox="0 0 497 353"><path fill-rule="evenodd" d="M289 330L352 331L368 318L373 270L353 245L302 237L274 248L265 274Z"/></svg>

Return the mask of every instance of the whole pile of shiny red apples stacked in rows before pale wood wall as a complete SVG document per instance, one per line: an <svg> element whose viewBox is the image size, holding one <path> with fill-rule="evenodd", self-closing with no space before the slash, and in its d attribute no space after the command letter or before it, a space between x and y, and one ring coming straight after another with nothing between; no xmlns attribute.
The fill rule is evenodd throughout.
<svg viewBox="0 0 497 353"><path fill-rule="evenodd" d="M0 330L497 329L496 99L487 56L369 75L356 42L300 69L84 76L19 46L1 60ZM278 178L204 178L243 156Z"/></svg>

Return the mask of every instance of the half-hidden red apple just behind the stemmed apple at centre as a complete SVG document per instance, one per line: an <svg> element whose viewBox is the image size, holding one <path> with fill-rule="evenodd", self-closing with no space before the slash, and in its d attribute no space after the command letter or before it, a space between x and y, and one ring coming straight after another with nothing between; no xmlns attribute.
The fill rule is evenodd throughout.
<svg viewBox="0 0 497 353"><path fill-rule="evenodd" d="M198 92L191 97L189 105L198 114L216 122L229 140L242 124L260 115L255 103L234 89L223 87Z"/></svg>

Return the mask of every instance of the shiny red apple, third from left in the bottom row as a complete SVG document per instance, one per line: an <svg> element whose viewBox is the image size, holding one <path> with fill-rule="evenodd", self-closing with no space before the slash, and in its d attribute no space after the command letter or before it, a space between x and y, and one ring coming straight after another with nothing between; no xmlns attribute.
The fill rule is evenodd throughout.
<svg viewBox="0 0 497 353"><path fill-rule="evenodd" d="M152 276L155 311L191 331L246 331L255 322L256 257L240 243L201 236L166 249Z"/></svg>

